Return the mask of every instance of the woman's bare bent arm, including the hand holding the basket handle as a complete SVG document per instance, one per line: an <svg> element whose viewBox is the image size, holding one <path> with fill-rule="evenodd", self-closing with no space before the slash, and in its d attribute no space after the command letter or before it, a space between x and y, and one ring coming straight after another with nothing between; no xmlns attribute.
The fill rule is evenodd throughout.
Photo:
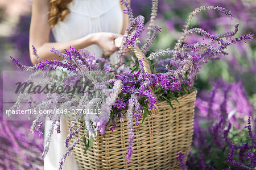
<svg viewBox="0 0 256 170"><path fill-rule="evenodd" d="M64 52L64 49L68 49L69 46L81 49L92 44L97 44L105 55L111 55L117 50L113 40L121 35L109 32L97 32L69 42L49 43L51 26L48 23L48 11L48 0L33 1L30 24L30 60L32 64L38 63L38 60L33 55L32 45L34 45L38 56L42 60L52 60L53 58L56 60L63 60L61 57L54 55L50 51L52 47L60 52Z"/></svg>

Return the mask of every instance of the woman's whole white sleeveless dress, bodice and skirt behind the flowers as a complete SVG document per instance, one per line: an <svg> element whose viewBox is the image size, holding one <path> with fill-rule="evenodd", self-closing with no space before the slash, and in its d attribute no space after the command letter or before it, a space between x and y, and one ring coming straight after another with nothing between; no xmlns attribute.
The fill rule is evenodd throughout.
<svg viewBox="0 0 256 170"><path fill-rule="evenodd" d="M68 5L71 11L64 20L58 22L53 28L56 42L68 42L82 38L94 32L113 32L121 34L123 13L119 0L73 0ZM96 57L102 56L102 51L97 45L86 47L95 53ZM116 53L110 56L110 63L115 63ZM46 121L45 135L47 136L51 121ZM61 133L53 132L49 151L44 158L44 169L59 169L59 161L67 150L64 146L68 130L65 122L61 121ZM78 169L75 159L69 155L63 164L64 170Z"/></svg>

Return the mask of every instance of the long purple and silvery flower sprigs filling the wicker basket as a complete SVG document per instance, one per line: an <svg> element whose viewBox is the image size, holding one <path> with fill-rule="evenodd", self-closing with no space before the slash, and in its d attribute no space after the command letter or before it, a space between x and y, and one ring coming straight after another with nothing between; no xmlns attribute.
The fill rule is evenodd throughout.
<svg viewBox="0 0 256 170"><path fill-rule="evenodd" d="M189 29L189 23L193 16L201 11L216 10L232 18L232 13L222 7L201 6L189 15L183 34L177 40L174 49L154 51L150 49L150 45L154 42L156 32L160 32L161 28L154 25L158 1L152 0L149 36L146 43L139 48L139 36L144 31L144 17L134 18L129 3L126 0L122 0L122 3L127 8L125 12L129 15L130 23L118 51L118 62L114 65L110 64L107 59L97 58L86 49L76 50L72 47L65 50L65 53L52 48L51 51L62 57L64 62L39 61L34 67L26 67L20 64L18 59L11 57L20 70L36 71L27 82L31 82L32 77L40 74L48 77L49 80L41 81L38 84L64 86L59 90L61 93L48 93L46 98L40 102L33 98L32 93L27 95L20 93L17 102L11 108L19 108L20 100L27 99L30 109L57 109L59 113L62 113L40 114L31 126L31 131L37 131L41 135L43 134L41 127L46 117L52 121L42 157L45 157L49 150L55 126L56 131L60 133L61 119L66 117L71 120L69 134L65 140L67 152L60 160L60 169L67 155L81 139L85 141L86 151L93 146L93 138L98 133L104 135L108 126L111 126L113 131L117 128L117 119L122 120L123 117L127 119L129 145L127 146L126 160L129 163L133 153L134 119L135 125L140 126L139 121L143 122L151 111L158 109L155 105L158 100L166 100L170 107L173 107L171 99L179 102L178 97L191 93L195 89L193 83L196 73L205 63L208 63L209 60L220 59L222 55L228 55L225 49L229 45L253 39L253 35L250 33L233 37L238 31L239 24L234 26L234 31L220 35L212 35L203 28ZM193 44L184 43L185 38L192 34L199 34L210 41L209 43L203 41ZM133 53L125 53L127 48L135 53L138 60ZM38 57L36 50L34 50L34 55ZM39 57L38 60L40 60ZM45 70L47 73L44 72ZM57 92L56 86L55 90ZM64 91L65 93L63 93ZM64 116L63 113L69 114ZM75 126L77 121L82 121L82 125ZM83 128L86 129L83 135L72 139ZM69 144L71 139L73 143Z"/></svg>

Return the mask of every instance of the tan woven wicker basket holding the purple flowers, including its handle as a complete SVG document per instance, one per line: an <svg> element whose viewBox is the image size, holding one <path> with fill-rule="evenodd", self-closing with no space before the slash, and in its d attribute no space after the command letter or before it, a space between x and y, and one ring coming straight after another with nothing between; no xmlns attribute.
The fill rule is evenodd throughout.
<svg viewBox="0 0 256 170"><path fill-rule="evenodd" d="M141 59L144 55L138 48L133 52ZM147 60L143 60L146 72L150 72ZM183 152L187 159L193 135L193 117L196 91L172 100L172 106L167 101L158 101L157 109L151 111L141 126L134 121L133 155L130 163L126 163L129 136L127 122L117 123L117 128L107 128L103 136L97 135L84 155L84 144L81 141L73 149L72 155L80 169L180 169L178 154ZM67 121L69 128L70 121ZM76 126L81 125L78 122ZM73 139L79 138L85 131L80 130ZM73 142L73 139L71 142Z"/></svg>

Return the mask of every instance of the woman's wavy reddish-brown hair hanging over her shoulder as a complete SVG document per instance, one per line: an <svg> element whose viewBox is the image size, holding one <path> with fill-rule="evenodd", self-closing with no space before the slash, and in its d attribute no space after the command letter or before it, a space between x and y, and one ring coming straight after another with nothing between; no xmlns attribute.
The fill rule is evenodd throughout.
<svg viewBox="0 0 256 170"><path fill-rule="evenodd" d="M48 22L51 26L54 26L58 20L63 21L65 16L70 13L68 4L73 0L51 0L49 2L49 19Z"/></svg>

